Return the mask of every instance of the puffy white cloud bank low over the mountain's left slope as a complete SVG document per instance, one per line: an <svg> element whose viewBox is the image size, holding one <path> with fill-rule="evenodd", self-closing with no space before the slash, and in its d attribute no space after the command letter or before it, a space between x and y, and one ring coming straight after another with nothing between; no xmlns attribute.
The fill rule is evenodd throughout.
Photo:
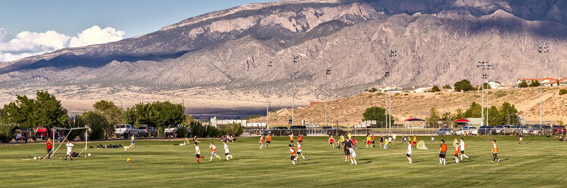
<svg viewBox="0 0 567 188"><path fill-rule="evenodd" d="M50 53L67 47L119 41L124 35L124 31L116 31L111 27L101 29L96 25L77 33L77 37L66 36L56 31L45 33L24 31L14 37L0 28L0 62Z"/></svg>

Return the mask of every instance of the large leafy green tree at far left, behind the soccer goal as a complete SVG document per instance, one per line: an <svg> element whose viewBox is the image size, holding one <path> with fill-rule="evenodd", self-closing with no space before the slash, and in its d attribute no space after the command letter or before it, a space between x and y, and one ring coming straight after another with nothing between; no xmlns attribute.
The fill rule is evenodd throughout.
<svg viewBox="0 0 567 188"><path fill-rule="evenodd" d="M52 127L62 127L69 118L67 109L63 108L61 101L48 91L37 91L35 99L16 95L16 101L4 105L5 119L19 127L45 126L50 132Z"/></svg>

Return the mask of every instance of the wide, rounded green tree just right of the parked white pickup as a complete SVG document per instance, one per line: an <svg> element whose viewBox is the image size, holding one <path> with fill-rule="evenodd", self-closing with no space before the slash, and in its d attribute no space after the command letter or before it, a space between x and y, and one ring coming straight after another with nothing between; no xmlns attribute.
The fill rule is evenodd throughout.
<svg viewBox="0 0 567 188"><path fill-rule="evenodd" d="M182 104L172 104L169 101L143 104L140 102L136 108L137 121L143 125L153 126L163 130L169 125L183 122L185 107Z"/></svg>

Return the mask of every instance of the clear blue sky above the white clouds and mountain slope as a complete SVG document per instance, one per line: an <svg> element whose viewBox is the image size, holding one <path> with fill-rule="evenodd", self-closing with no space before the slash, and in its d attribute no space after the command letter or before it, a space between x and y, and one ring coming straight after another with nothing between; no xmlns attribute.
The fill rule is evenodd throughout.
<svg viewBox="0 0 567 188"><path fill-rule="evenodd" d="M181 20L211 11L262 0L163 1L7 1L0 0L0 28L12 35L23 31L57 31L77 36L93 25L124 31L124 38L158 31Z"/></svg>

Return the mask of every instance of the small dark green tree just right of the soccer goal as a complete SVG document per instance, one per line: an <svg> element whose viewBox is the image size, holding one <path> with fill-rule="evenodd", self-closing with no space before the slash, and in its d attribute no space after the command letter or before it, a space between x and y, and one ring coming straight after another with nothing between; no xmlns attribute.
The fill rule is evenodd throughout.
<svg viewBox="0 0 567 188"><path fill-rule="evenodd" d="M100 113L93 111L84 112L82 118L86 126L90 128L90 131L88 131L89 140L102 140L106 138L104 127L111 125L106 118Z"/></svg>

